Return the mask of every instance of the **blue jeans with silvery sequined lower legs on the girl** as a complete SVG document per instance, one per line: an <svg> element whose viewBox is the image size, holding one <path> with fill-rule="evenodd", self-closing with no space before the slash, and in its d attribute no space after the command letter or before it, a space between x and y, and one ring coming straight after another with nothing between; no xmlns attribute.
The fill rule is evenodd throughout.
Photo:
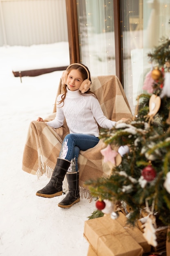
<svg viewBox="0 0 170 256"><path fill-rule="evenodd" d="M98 142L99 138L93 135L70 133L64 138L59 157L71 162L70 172L78 171L77 158L79 151L93 148Z"/></svg>

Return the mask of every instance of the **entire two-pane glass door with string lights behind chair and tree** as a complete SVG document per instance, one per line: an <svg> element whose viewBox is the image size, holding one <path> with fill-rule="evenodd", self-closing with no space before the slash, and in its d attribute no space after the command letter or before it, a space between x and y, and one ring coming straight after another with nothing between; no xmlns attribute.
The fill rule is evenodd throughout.
<svg viewBox="0 0 170 256"><path fill-rule="evenodd" d="M148 53L163 37L170 37L170 1L75 1L81 63L89 67L92 76L114 75L119 65L123 71L121 82L134 114L145 76L154 65L149 62ZM119 6L120 16L115 6ZM117 27L121 31L121 54L115 54Z"/></svg>

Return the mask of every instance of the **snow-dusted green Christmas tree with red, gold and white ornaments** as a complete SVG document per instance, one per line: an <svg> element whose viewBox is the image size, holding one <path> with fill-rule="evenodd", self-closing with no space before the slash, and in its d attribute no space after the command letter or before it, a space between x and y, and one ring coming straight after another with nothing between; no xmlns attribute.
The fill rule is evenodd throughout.
<svg viewBox="0 0 170 256"><path fill-rule="evenodd" d="M148 57L152 69L144 81L146 93L137 98L135 115L100 132L107 145L101 150L104 162L112 166L110 176L86 182L99 198L97 209L113 218L124 208L128 222L134 224L141 211L147 211L152 219L145 223L147 232L152 231L155 216L170 225L170 40L162 38Z"/></svg>

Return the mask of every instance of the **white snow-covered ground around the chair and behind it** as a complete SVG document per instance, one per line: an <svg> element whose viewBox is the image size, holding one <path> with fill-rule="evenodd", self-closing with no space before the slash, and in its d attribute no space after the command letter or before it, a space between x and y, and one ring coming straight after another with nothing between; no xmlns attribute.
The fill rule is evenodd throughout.
<svg viewBox="0 0 170 256"><path fill-rule="evenodd" d="M35 195L48 182L22 171L29 123L53 111L62 71L14 77L13 71L69 65L67 42L0 47L0 255L86 256L84 222L95 210L83 198L70 209L57 206L64 195Z"/></svg>

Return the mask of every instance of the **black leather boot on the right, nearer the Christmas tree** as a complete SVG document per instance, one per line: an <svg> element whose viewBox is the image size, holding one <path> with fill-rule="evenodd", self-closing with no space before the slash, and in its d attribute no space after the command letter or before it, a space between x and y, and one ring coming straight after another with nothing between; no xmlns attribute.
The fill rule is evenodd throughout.
<svg viewBox="0 0 170 256"><path fill-rule="evenodd" d="M79 202L79 172L66 174L68 182L68 193L65 198L58 204L59 207L69 208Z"/></svg>

